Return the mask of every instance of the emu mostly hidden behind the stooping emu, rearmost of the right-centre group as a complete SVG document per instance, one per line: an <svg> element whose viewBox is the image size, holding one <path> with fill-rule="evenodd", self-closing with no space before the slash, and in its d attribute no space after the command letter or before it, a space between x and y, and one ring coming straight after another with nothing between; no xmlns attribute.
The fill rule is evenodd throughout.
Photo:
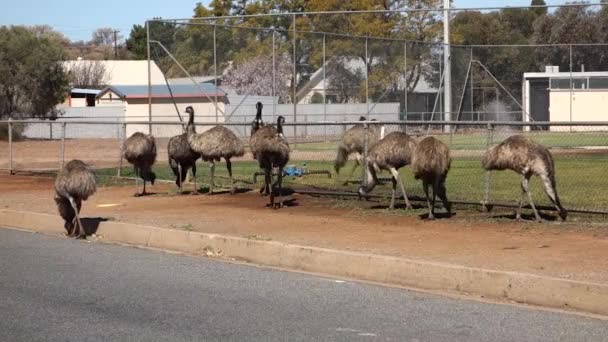
<svg viewBox="0 0 608 342"><path fill-rule="evenodd" d="M365 120L366 118L364 116L359 117L359 121ZM371 121L376 120L372 119ZM379 125L369 126L367 146L374 145L379 139L382 138L381 131L382 127L380 127ZM365 126L363 124L357 124L349 128L346 132L344 132L344 135L342 136L342 139L338 144L338 152L336 154L336 160L334 162L334 169L336 170L336 173L340 173L340 169L344 167L344 165L346 165L348 157L354 153L355 164L353 165L353 168L348 177L352 176L355 170L357 169L357 166L359 166L359 164L361 164L361 161L363 160L364 149Z"/></svg>

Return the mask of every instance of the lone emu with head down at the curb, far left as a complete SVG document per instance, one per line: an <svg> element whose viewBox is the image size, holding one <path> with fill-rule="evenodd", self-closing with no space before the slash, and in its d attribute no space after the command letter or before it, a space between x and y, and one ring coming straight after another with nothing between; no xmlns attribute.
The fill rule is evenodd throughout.
<svg viewBox="0 0 608 342"><path fill-rule="evenodd" d="M68 236L84 238L86 232L80 222L82 201L97 190L95 174L80 160L68 162L55 179L55 203L64 219Z"/></svg>

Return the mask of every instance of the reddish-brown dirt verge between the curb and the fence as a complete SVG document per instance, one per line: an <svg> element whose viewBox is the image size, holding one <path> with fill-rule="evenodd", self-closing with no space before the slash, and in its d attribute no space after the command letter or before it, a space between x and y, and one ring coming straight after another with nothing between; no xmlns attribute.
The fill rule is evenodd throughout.
<svg viewBox="0 0 608 342"><path fill-rule="evenodd" d="M149 189L156 194L134 198L134 186L103 187L83 216L608 283L608 223L597 218L538 224L456 207L450 219L425 221L359 208L374 206L367 202L295 194L292 206L272 210L257 191L192 196L174 188L157 184ZM1 208L54 214L52 198L51 178L0 176Z"/></svg>

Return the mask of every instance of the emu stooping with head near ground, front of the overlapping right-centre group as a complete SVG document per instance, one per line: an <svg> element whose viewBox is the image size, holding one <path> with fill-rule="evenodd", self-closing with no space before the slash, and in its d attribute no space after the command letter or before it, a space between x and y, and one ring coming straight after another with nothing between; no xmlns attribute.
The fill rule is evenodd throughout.
<svg viewBox="0 0 608 342"><path fill-rule="evenodd" d="M416 142L409 135L402 132L392 132L386 137L378 141L369 150L367 158L367 186L359 187L359 195L366 196L378 184L376 173L379 170L388 170L392 174L393 192L391 195L390 209L395 209L395 192L397 183L401 188L403 199L407 209L411 209L412 205L407 198L405 188L399 176L399 169L411 164L412 154L416 148Z"/></svg>

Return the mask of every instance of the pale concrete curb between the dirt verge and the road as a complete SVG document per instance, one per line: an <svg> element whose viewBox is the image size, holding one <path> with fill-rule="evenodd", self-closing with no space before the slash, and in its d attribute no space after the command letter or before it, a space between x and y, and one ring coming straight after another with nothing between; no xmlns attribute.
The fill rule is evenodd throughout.
<svg viewBox="0 0 608 342"><path fill-rule="evenodd" d="M58 216L12 210L0 210L0 226L55 235L65 232ZM119 222L101 222L97 234L109 242L608 315L604 284Z"/></svg>

